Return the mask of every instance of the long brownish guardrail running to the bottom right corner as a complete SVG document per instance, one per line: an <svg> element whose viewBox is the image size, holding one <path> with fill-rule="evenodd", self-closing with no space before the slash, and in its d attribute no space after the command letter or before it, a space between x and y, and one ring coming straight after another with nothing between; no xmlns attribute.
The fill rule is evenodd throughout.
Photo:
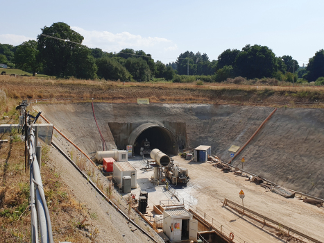
<svg viewBox="0 0 324 243"><path fill-rule="evenodd" d="M233 201L230 201L230 200L228 200L228 199L224 199L224 206L230 206L229 204L232 204L232 206L235 206L236 208L240 208L240 209L243 210L243 206L241 206L241 205L239 205L239 204L237 204L237 203L235 203L235 202L233 202ZM234 207L232 207L232 206L230 206L230 208L234 208ZM257 218L255 218L255 217L252 217L251 215L246 214L246 212L250 212L250 214L252 214L252 215L254 215L254 216L257 216L257 217L259 217L260 219L257 219ZM242 213L243 213L243 212L242 212ZM273 228L273 226L271 226L270 224L267 224L266 221L269 221L269 222L271 222L271 224L275 224L275 226L278 226L278 227L280 227L280 228L284 228L284 229L287 230L287 234L288 234L287 236L289 236L290 233L294 233L294 234L296 234L296 235L298 235L298 236L300 236L300 237L303 237L303 238L305 238L305 239L307 239L307 240L310 240L310 241L312 241L312 242L315 242L315 243L321 243L319 240L316 240L316 239L314 239L314 238L312 238L312 237L309 237L308 235L305 235L305 234L303 234L303 233L300 233L299 231L296 231L296 230L294 230L293 228L290 228L290 227L288 227L288 226L285 226L284 224L281 224L281 223L279 223L278 221L275 221L275 220L273 220L273 219L269 219L268 217L265 217L264 215L260 215L258 212L254 212L253 210L250 210L250 209L245 208L245 207L244 207L244 215L250 217L251 219L254 219L254 220L256 220L256 221L259 221L260 223L262 223L262 224L264 224L264 225L266 225L266 226L270 226L270 227L272 227L272 228Z"/></svg>

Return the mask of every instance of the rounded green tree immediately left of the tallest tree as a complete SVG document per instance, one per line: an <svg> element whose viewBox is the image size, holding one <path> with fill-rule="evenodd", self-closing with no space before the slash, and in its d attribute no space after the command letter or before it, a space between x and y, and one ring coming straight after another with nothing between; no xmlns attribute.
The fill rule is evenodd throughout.
<svg viewBox="0 0 324 243"><path fill-rule="evenodd" d="M42 63L39 62L39 52L35 40L23 42L15 52L16 67L26 72L32 72L35 76L35 73L42 69Z"/></svg>

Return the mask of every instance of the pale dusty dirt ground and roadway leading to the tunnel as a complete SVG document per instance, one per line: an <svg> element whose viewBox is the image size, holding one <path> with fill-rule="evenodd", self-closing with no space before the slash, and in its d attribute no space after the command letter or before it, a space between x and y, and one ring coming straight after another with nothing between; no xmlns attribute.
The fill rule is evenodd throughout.
<svg viewBox="0 0 324 243"><path fill-rule="evenodd" d="M175 165L189 169L190 181L187 185L171 185L179 195L180 201L190 203L191 207L205 212L214 218L214 225L223 225L223 231L234 233L239 242L286 242L280 238L273 228L264 227L257 221L241 216L234 210L224 207L224 199L229 199L241 204L239 192L245 193L244 206L261 215L289 226L296 231L305 233L310 237L323 241L323 207L303 203L302 200L286 199L273 192L266 192L263 187L245 181L244 176L235 176L232 172L224 173L216 169L210 163L197 163L174 156ZM137 185L132 193L138 198L141 190L148 192L147 215L151 215L153 222L153 206L160 201L173 201L177 203L175 196L165 190L164 185L153 185L150 179L153 176L153 168L145 170L144 163L139 156L130 158L130 163L137 169ZM126 194L124 195L126 196ZM147 217L149 220L150 218Z"/></svg>

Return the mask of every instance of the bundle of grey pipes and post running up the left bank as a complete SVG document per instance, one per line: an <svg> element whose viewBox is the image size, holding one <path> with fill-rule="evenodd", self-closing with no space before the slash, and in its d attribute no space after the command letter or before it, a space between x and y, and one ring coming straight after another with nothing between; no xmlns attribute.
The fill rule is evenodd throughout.
<svg viewBox="0 0 324 243"><path fill-rule="evenodd" d="M36 117L26 112L28 106L27 101L23 101L17 106L16 110L20 110L19 129L20 133L25 136L25 171L27 162L30 172L30 209L31 209L31 242L38 243L39 239L42 243L53 243L53 233L51 219L49 217L49 208L47 208L42 178L40 176L40 166L37 157L40 156L40 149L37 148L37 135L33 124L40 116L40 112ZM39 157L40 158L40 157ZM40 229L40 232L38 232Z"/></svg>

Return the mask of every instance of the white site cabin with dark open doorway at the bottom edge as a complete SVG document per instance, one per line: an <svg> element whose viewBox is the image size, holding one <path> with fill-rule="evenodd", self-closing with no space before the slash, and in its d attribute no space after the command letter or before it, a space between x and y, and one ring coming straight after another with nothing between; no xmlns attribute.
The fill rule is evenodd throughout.
<svg viewBox="0 0 324 243"><path fill-rule="evenodd" d="M197 240L198 221L185 208L163 211L163 233L171 242Z"/></svg>

